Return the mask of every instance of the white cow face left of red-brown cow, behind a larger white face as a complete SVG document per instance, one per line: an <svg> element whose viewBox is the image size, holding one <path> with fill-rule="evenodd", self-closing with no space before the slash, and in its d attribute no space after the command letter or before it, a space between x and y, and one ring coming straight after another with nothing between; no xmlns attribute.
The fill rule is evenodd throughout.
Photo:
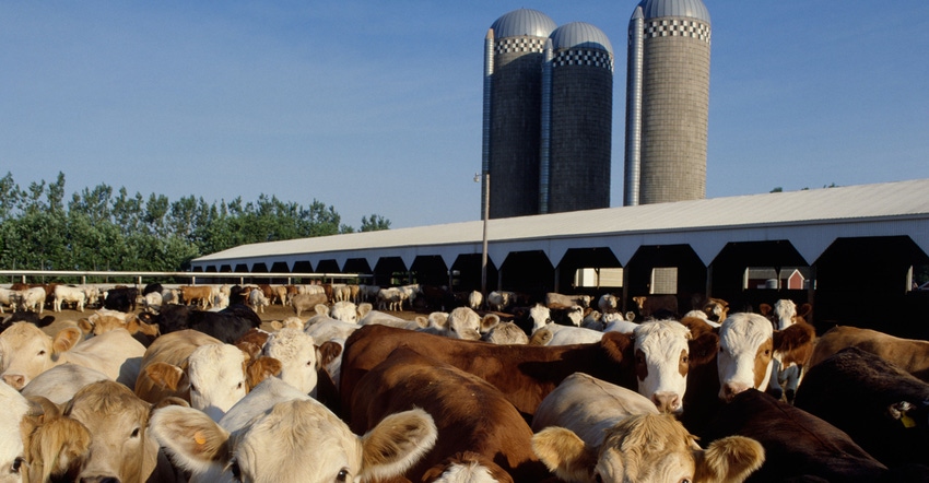
<svg viewBox="0 0 929 483"><path fill-rule="evenodd" d="M262 352L281 362L277 377L303 393L316 396L319 353L310 335L298 329L281 329L271 333Z"/></svg>

